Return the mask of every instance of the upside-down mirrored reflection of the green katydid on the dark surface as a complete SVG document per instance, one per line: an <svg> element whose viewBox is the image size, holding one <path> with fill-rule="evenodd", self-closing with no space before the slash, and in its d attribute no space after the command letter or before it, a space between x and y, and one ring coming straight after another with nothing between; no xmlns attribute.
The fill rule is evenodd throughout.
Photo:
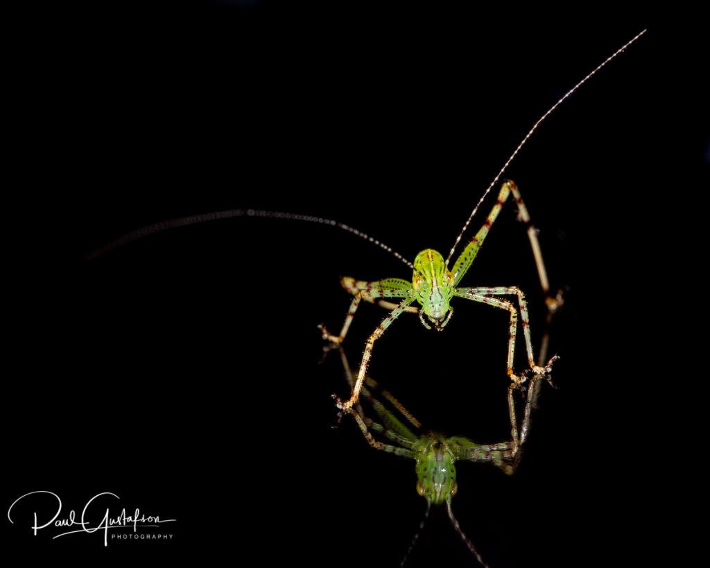
<svg viewBox="0 0 710 568"><path fill-rule="evenodd" d="M346 378L352 387L354 386L353 378L342 348L340 349L340 354ZM545 357L544 352L541 352L540 355L541 358ZM554 359L553 357L550 364L552 364ZM452 498L457 492L456 467L454 464L456 461L491 463L501 468L508 475L512 475L515 472L515 468L520 461L523 444L530 433L530 415L535 407L541 379L545 378L547 370L549 370L549 365L543 369L545 372L533 375L527 386L521 386L518 383L511 383L508 386L511 439L495 444L477 444L465 437L444 437L436 432L424 431L420 435L415 434L410 428L421 430L420 422L391 393L379 388L371 377L366 376L361 388L360 401L364 400L374 410L378 415L379 422L366 416L360 401L345 412L354 417L368 444L373 448L416 461L417 493L427 500L427 510L424 518L409 545L407 554L402 560L402 565L405 564L407 557L417 542L420 531L424 528L432 503L446 503L449 519L451 519L454 529L459 533L461 540L464 541L466 547L469 548L483 566L488 566L478 550L476 550L474 543L461 530L458 520L454 517L451 507ZM515 412L516 394L519 398L520 393L526 390L527 395L522 400L517 401L518 404L523 404L525 409L523 420L518 423ZM386 403L388 403L387 406ZM388 407L391 407L392 410ZM403 420L395 416L395 411L400 413ZM409 425L404 422L409 422ZM387 439L388 442L381 442L376 439L376 435Z"/></svg>

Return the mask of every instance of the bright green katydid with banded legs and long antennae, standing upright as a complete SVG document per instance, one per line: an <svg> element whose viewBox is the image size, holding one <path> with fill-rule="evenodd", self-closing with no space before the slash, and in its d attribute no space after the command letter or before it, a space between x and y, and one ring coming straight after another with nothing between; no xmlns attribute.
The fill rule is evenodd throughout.
<svg viewBox="0 0 710 568"><path fill-rule="evenodd" d="M355 280L354 278L344 278L342 280L342 285L344 286L344 288L348 290L349 293L351 293L354 297L351 301L351 305L347 312L341 332L337 336L334 336L332 334L329 334L329 332L327 332L327 329L322 328L324 339L327 339L329 342L333 342L336 344L340 344L344 340L361 300L366 300L367 302L373 303L376 302L378 303L378 305L390 309L391 312L368 337L365 344L364 354L361 359L361 364L359 366L357 378L354 382L354 387L351 392L351 396L346 401L337 399L337 406L339 408L342 408L343 410L348 410L349 408L352 408L354 403L356 403L356 400L359 396L359 392L362 388L364 378L366 376L369 361L371 360L374 343L382 336L382 334L392 324L394 320L396 320L403 312L417 312L419 314L420 321L425 327L427 327L427 329L431 329L431 327L434 327L435 329L441 331L449 323L449 320L451 320L453 310L450 305L450 301L454 296L464 297L469 300L474 300L475 302L481 302L487 305L491 305L493 307L501 308L503 310L508 310L510 312L507 372L513 383L524 383L529 376L537 374L546 374L549 371L549 365L540 366L535 365L534 363L534 355L530 339L528 309L523 292L515 286L476 288L461 288L458 286L462 278L464 278L464 275L466 275L466 272L471 267L471 263L473 263L474 258L476 258L476 255L479 253L481 245L483 244L483 241L488 234L488 230L493 225L493 222L495 222L496 217L498 217L498 213L501 211L503 204L508 200L508 197L510 195L513 195L513 199L515 200L518 206L519 219L528 224L528 237L530 239L532 251L535 256L535 261L537 263L537 271L540 276L540 284L542 286L542 290L547 295L548 310L550 313L552 313L555 309L557 309L557 307L559 307L559 305L561 305L561 295L550 295L550 286L547 281L547 273L545 271L545 265L542 261L540 246L537 241L537 232L535 230L535 227L533 227L530 223L530 216L528 214L528 211L525 207L525 204L523 203L522 197L520 197L520 192L518 192L517 186L515 186L513 182L511 182L510 180L506 180L505 182L503 182L503 184L501 185L501 189L498 193L498 199L496 200L496 204L494 204L493 208L491 209L491 212L488 214L488 217L486 218L486 221L484 222L483 226L481 226L481 229L479 229L479 231L476 233L476 236L471 239L469 244L467 244L467 246L464 248L464 251L460 254L456 261L454 261L451 269L449 269L449 264L452 261L452 257L454 255L454 252L457 250L462 236L464 235L466 229L471 223L471 219L473 219L474 215L479 210L479 207L481 206L482 202L484 201L488 193L491 192L491 189L497 184L498 180L501 179L501 176L507 170L508 165L510 165L513 158L515 158L515 156L518 154L520 148L522 148L523 145L528 141L530 136L532 136L532 133L537 130L537 127L540 126L542 121L544 121L547 116L552 113L552 111L557 109L559 104L562 104L565 99L571 96L572 93L574 93L581 86L581 84L584 84L584 82L589 80L589 78L592 77L597 71L604 67L613 58L616 58L617 55L619 55L621 52L623 52L623 50L628 48L629 45L635 42L635 40L640 38L640 36L644 33L645 30L640 32L633 39L628 41L628 43L616 50L616 52L609 56L606 60L604 60L601 65L598 65L593 71L586 75L584 79L574 85L572 89L570 89L566 94L564 94L562 98L560 98L555 104L553 104L552 107L550 107L550 109L548 109L545 114L543 114L540 119L535 122L535 124L532 126L532 129L528 131L523 140L515 148L515 151L513 151L508 160L506 160L506 163L503 165L503 168L501 168L501 170L498 172L491 184L488 185L488 188L481 196L479 202L476 204L476 207L474 207L473 211L464 223L464 226L459 232L456 241L454 241L454 246L452 246L452 249L451 251L449 251L449 255L445 260L442 254L438 253L437 251L434 251L433 249L425 249L417 255L414 263L410 263L409 261L406 261L403 256L401 256L399 253L396 253L385 244L382 244L381 242L376 241L376 239L373 239L370 236L361 233L361 231L357 231L356 229L353 229L352 227L347 226L345 224L334 222L330 219L322 219L320 217L310 217L307 215L288 214L280 212L268 212L253 209L231 209L229 211L224 212L214 212L209 214L195 215L191 217L182 217L180 219L173 219L171 221L153 224L151 226L144 227L143 229L138 229L138 231L133 231L129 234L126 234L120 239L116 239L116 241L113 241L107 246L102 247L102 249L98 249L97 251L90 253L87 258L97 258L98 256L102 256L103 254L111 251L112 249L116 249L117 247L122 246L130 241L140 239L143 236L148 236L149 234L153 234L158 231L171 229L176 226L187 226L200 222L212 221L214 219L226 219L229 217L275 217L284 219L295 219L307 222L317 222L320 224L337 226L340 229L344 229L353 234L356 234L361 238L373 242L374 244L385 249L386 251L393 253L397 258L400 259L400 261L403 261L403 263L405 263L407 266L410 267L410 269L413 270L413 279L411 282L400 278L388 278L375 282L364 282L360 280ZM518 307L515 307L513 302L501 299L501 297L505 296L517 297ZM399 303L388 302L386 300L387 298L400 298L401 301ZM417 302L420 307L413 306L415 302ZM523 324L523 336L525 338L525 348L529 364L529 367L525 369L523 373L515 373L513 369L518 310L520 311L520 320L522 320Z"/></svg>

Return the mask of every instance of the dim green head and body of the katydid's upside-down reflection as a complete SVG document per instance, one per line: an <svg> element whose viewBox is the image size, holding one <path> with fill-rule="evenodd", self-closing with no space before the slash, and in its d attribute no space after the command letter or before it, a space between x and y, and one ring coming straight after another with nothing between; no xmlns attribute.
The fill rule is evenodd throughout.
<svg viewBox="0 0 710 568"><path fill-rule="evenodd" d="M417 492L431 503L444 503L456 494L454 455L439 437L422 438L417 454Z"/></svg>

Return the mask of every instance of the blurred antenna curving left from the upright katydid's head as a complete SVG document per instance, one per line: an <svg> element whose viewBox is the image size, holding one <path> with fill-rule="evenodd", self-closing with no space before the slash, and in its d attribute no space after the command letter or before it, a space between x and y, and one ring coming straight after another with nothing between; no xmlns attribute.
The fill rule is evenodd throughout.
<svg viewBox="0 0 710 568"><path fill-rule="evenodd" d="M309 223L319 223L322 225L335 226L338 229L347 231L351 234L359 236L361 239L371 242L372 244L379 246L381 249L391 253L395 258L399 258L400 261L405 263L409 268L414 270L414 265L410 263L406 258L404 258L400 253L387 246L381 241L378 241L368 234L358 231L349 225L344 223L339 223L333 221L332 219L324 219L324 217L313 217L311 215L301 215L297 213L282 213L278 211L264 211L262 209L228 209L226 211L217 211L212 213L202 213L198 215L190 215L190 217L179 217L178 219L169 219L168 221L161 221L159 223L154 223L152 225L141 227L141 229L136 229L130 233L126 233L123 236L119 236L118 239L114 239L109 244L106 244L95 251L88 253L84 256L84 260L94 261L111 251L120 249L121 246L125 246L138 239L143 239L143 237L150 236L155 233L160 233L161 231L167 231L168 229L175 229L180 226L190 226L196 225L198 223L206 223L208 221L217 221L218 219L230 219L231 217L267 217L269 219L292 219L295 221L305 221Z"/></svg>

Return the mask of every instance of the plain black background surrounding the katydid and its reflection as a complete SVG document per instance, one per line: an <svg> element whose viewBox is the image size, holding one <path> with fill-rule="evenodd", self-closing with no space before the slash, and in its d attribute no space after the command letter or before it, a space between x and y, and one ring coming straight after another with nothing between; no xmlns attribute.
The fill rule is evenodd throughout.
<svg viewBox="0 0 710 568"><path fill-rule="evenodd" d="M8 21L18 79L7 226L20 262L7 275L2 503L54 491L67 513L111 491L121 507L178 522L171 542L104 548L98 535L33 537L27 508L6 520L5 546L134 564L377 566L398 565L425 503L412 463L369 448L350 420L332 428L330 395L348 388L337 357L318 364L316 325L342 323L340 276L409 269L337 229L265 219L83 255L232 207L337 219L410 259L445 253L530 126L650 26L506 172L540 228L552 286L567 289L552 329L559 388L543 390L518 474L461 464L454 498L493 568L603 565L613 547L635 557L628 524L656 508L638 480L657 454L641 448L669 436L677 409L658 403L697 342L667 323L693 305L695 263L665 247L699 242L687 219L694 187L706 187L695 168L708 128L685 112L699 108L699 70L677 62L692 67L697 53L670 23L226 2L55 6ZM542 295L513 207L463 284L520 286L539 342ZM505 439L507 317L454 309L441 334L395 322L371 373L427 427ZM346 341L353 365L381 317L361 308ZM438 509L408 565L435 558L474 564Z"/></svg>

